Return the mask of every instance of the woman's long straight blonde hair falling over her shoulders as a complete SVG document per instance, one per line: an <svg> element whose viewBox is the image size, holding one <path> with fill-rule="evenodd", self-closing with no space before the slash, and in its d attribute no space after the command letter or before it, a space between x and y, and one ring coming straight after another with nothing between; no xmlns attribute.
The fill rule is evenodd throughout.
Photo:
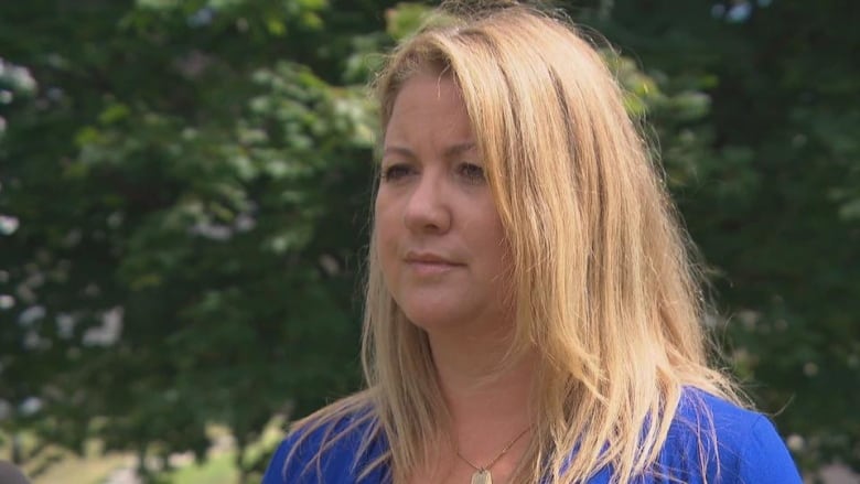
<svg viewBox="0 0 860 484"><path fill-rule="evenodd" d="M657 472L684 387L739 402L707 361L687 238L591 43L518 2L480 3L443 4L376 87L384 129L404 83L428 68L453 78L472 120L512 254L509 355L539 348L535 427L512 482L584 482L606 465L613 482ZM366 298L367 389L297 430L357 415L319 454L363 426L359 452L374 439L396 443L364 472L387 464L401 482L448 441L448 413L428 340L385 287L373 236Z"/></svg>

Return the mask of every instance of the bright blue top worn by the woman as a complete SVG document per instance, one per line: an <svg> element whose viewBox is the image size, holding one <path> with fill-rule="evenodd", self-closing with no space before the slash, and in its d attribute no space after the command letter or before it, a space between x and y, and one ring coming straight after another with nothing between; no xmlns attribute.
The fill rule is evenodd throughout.
<svg viewBox="0 0 860 484"><path fill-rule="evenodd" d="M337 432L348 424L350 419L346 419L330 430ZM388 469L384 465L361 482L357 480L363 464L385 449L385 442L375 442L364 455L357 455L365 430L366 424L351 430L324 452L319 467L310 465L307 470L305 464L315 455L326 431L323 429L309 435L284 466L297 440L294 434L289 435L269 463L262 484L389 484ZM709 438L714 431L718 452L713 452ZM702 462L707 462L705 473ZM654 470L634 483L802 483L788 450L766 417L694 389L684 392ZM609 484L611 475L611 467L603 469L587 484Z"/></svg>

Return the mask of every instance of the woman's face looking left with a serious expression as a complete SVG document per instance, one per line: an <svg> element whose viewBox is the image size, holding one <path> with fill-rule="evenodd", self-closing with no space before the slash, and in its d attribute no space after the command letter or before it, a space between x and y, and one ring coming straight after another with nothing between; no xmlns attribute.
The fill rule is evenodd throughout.
<svg viewBox="0 0 860 484"><path fill-rule="evenodd" d="M397 95L375 222L386 284L412 323L432 332L510 320L502 222L448 76L417 74Z"/></svg>

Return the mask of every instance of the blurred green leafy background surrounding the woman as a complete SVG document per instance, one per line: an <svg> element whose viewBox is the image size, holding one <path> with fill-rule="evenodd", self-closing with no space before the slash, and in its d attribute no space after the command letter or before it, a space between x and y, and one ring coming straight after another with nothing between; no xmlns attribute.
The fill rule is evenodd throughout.
<svg viewBox="0 0 860 484"><path fill-rule="evenodd" d="M723 364L809 482L860 482L860 2L556 3L615 46ZM256 483L357 388L366 86L426 9L0 1L0 460Z"/></svg>

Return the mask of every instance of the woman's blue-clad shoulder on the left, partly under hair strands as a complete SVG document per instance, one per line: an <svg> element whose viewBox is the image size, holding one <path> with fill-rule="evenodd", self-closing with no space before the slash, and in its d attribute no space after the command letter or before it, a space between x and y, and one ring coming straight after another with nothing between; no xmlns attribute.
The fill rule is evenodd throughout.
<svg viewBox="0 0 860 484"><path fill-rule="evenodd" d="M358 480L362 470L381 454L372 434L373 419L367 411L320 419L312 416L280 443L262 484L380 482L378 477Z"/></svg>

